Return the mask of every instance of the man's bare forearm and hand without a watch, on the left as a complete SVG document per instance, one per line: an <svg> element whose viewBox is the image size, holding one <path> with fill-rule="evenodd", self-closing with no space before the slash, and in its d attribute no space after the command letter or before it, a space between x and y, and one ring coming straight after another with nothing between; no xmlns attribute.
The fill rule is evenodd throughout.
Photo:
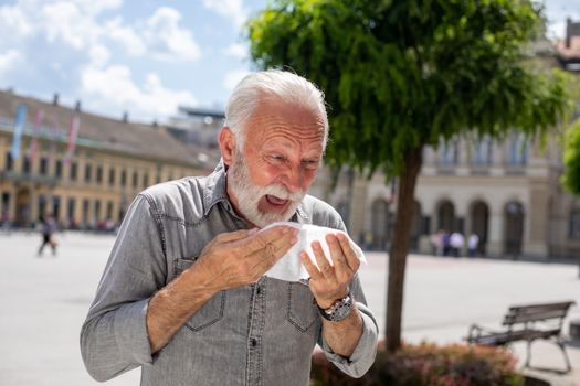
<svg viewBox="0 0 580 386"><path fill-rule="evenodd" d="M257 281L296 244L298 230L276 226L218 235L200 258L157 292L147 310L151 352L164 347L211 297L224 289Z"/></svg>

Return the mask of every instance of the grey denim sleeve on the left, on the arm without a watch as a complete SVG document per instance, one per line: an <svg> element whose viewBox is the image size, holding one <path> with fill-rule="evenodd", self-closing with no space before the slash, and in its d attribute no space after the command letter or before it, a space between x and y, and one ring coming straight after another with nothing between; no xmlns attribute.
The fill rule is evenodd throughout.
<svg viewBox="0 0 580 386"><path fill-rule="evenodd" d="M95 299L81 330L81 353L96 380L151 363L146 315L150 297L165 285L162 227L152 200L133 202Z"/></svg>

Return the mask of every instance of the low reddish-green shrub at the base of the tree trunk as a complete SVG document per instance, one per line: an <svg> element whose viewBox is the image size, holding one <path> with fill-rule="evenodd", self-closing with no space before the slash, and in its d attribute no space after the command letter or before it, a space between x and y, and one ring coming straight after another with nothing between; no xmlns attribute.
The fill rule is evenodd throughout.
<svg viewBox="0 0 580 386"><path fill-rule="evenodd" d="M519 386L516 360L505 349L422 343L403 345L394 354L379 350L371 369L354 379L323 353L313 356L312 385L384 386Z"/></svg>

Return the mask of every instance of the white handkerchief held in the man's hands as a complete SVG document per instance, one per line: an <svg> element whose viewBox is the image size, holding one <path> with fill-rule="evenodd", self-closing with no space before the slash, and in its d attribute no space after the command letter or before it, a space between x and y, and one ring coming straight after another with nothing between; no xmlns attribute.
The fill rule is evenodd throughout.
<svg viewBox="0 0 580 386"><path fill-rule="evenodd" d="M341 233L348 237L348 235L342 230L327 228L324 226L289 223L289 222L277 222L277 223L266 226L260 232L263 232L265 229L270 229L274 226L280 226L280 225L292 226L293 228L300 230L297 236L298 242L267 272L264 274L265 276L268 276L275 279L280 279L280 280L302 281L310 277L308 275L308 271L306 270L306 268L304 268L304 265L300 261L299 254L303 250L306 250L306 253L308 253L308 257L310 258L310 261L313 261L313 264L316 267L318 267L318 265L316 264L316 259L314 257L313 248L312 248L312 243L315 240L320 243L328 261L330 262L330 265L333 265L333 261L330 260L330 250L328 248L328 244L326 243L325 236L328 234L336 235L336 234ZM367 259L365 258L365 254L362 253L360 247L356 245L355 242L352 242L350 237L348 237L348 240L350 242L350 245L352 246L352 249L355 250L355 254L357 255L359 260L366 264Z"/></svg>

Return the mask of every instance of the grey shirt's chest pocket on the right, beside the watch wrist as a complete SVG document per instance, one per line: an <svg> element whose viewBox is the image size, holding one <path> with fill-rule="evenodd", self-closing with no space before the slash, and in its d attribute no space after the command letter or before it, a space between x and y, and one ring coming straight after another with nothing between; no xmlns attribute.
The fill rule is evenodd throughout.
<svg viewBox="0 0 580 386"><path fill-rule="evenodd" d="M318 307L308 286L288 282L286 320L299 332L308 332L318 321Z"/></svg>

